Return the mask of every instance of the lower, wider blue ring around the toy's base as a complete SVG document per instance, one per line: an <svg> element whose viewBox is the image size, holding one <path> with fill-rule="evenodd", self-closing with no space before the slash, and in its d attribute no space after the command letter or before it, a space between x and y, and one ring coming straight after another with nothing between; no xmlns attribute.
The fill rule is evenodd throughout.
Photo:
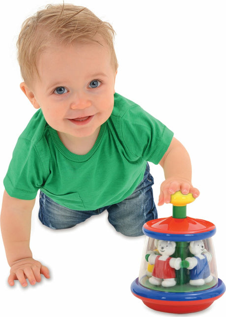
<svg viewBox="0 0 226 317"><path fill-rule="evenodd" d="M225 284L220 279L218 279L218 284L212 288L208 288L201 291L183 292L183 293L159 291L159 290L145 288L139 283L138 278L131 284L131 291L135 295L138 295L144 298L164 300L164 301L194 301L194 300L214 298L219 295L222 295L225 292L225 289L226 289Z"/></svg>

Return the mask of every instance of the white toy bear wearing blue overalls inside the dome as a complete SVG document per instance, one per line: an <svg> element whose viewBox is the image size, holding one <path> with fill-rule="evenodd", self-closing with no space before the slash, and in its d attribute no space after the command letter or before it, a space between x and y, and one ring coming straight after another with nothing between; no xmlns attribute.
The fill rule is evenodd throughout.
<svg viewBox="0 0 226 317"><path fill-rule="evenodd" d="M190 284L191 285L204 285L210 283L213 280L213 276L210 274L209 264L212 256L205 249L202 240L192 241L189 245L190 252L195 256L192 258L186 258L189 262L187 267L190 270Z"/></svg>

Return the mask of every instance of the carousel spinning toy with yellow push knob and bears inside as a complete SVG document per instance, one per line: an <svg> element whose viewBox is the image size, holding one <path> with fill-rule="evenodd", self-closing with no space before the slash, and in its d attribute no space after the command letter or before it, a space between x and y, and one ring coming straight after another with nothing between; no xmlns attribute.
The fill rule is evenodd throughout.
<svg viewBox="0 0 226 317"><path fill-rule="evenodd" d="M209 307L225 292L217 276L209 221L187 217L192 194L171 196L172 217L143 225L146 235L139 278L131 285L143 303L166 313L194 313Z"/></svg>

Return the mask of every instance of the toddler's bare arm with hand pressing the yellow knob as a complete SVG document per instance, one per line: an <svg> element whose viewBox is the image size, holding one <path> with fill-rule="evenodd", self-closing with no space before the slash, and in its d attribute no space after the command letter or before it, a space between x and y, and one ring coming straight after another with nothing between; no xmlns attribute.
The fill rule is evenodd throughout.
<svg viewBox="0 0 226 317"><path fill-rule="evenodd" d="M188 152L175 138L172 139L169 148L159 163L165 173L166 180L161 184L159 202L170 202L170 196L177 191L183 194L192 193L194 198L199 196L197 188L192 186L192 166Z"/></svg>

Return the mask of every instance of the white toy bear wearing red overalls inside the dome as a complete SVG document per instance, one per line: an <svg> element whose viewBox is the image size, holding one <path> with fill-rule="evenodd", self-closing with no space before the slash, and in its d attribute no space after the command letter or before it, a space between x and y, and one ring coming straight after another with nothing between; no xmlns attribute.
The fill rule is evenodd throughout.
<svg viewBox="0 0 226 317"><path fill-rule="evenodd" d="M149 264L154 264L152 277L149 282L153 285L162 285L163 287L172 287L176 285L175 269L180 269L180 258L170 258L176 248L174 241L155 240L155 246L160 255L149 251L146 259Z"/></svg>

